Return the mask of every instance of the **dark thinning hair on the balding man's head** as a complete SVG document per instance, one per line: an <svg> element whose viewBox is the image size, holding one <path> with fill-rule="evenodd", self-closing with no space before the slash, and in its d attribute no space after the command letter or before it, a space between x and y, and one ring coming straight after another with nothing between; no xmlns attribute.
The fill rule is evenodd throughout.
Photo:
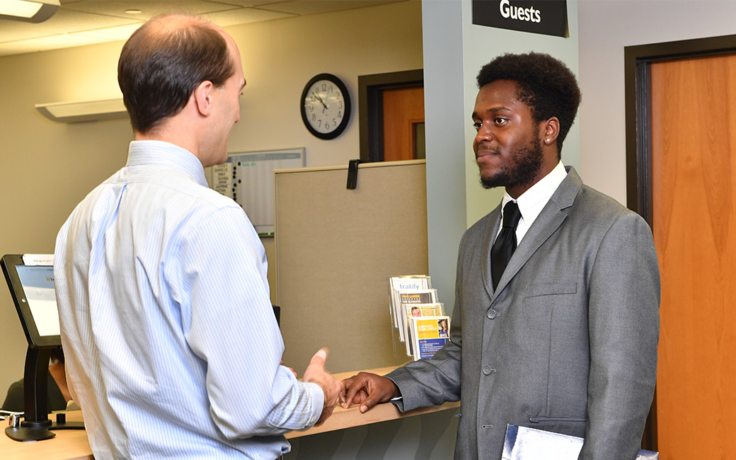
<svg viewBox="0 0 736 460"><path fill-rule="evenodd" d="M151 132L179 113L197 86L235 73L227 41L213 24L182 15L152 18L133 32L118 60L118 84L130 123Z"/></svg>

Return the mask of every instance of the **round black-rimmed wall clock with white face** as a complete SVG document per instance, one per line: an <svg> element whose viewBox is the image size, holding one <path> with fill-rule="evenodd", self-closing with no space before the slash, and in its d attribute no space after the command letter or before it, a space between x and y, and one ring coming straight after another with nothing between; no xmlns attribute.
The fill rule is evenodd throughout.
<svg viewBox="0 0 736 460"><path fill-rule="evenodd" d="M309 80L302 92L302 120L312 134L333 139L347 127L350 94L339 78L319 74Z"/></svg>

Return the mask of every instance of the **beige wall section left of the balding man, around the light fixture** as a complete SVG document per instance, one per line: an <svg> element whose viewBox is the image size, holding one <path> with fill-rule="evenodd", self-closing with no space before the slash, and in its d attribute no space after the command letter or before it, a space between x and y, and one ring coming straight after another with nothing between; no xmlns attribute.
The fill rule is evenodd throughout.
<svg viewBox="0 0 736 460"><path fill-rule="evenodd" d="M127 120L59 124L33 107L116 97L110 88L119 49L107 44L0 58L0 255L54 252L56 233L74 205L124 164L132 137ZM27 342L1 284L4 399L10 383L23 376Z"/></svg>

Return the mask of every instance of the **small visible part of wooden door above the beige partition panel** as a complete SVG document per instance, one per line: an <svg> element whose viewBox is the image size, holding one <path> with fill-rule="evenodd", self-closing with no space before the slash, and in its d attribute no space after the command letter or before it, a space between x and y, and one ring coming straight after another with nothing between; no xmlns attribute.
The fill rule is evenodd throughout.
<svg viewBox="0 0 736 460"><path fill-rule="evenodd" d="M422 86L383 90L383 161L424 158L423 125Z"/></svg>

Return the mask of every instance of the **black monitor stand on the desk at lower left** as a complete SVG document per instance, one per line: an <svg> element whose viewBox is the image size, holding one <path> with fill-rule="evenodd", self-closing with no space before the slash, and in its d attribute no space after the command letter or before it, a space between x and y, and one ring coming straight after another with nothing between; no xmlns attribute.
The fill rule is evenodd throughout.
<svg viewBox="0 0 736 460"><path fill-rule="evenodd" d="M24 371L24 420L19 427L5 428L5 434L15 441L41 441L56 436L51 430L84 429L83 422L49 420L49 358L54 347L28 347ZM59 417L59 419L66 417Z"/></svg>

